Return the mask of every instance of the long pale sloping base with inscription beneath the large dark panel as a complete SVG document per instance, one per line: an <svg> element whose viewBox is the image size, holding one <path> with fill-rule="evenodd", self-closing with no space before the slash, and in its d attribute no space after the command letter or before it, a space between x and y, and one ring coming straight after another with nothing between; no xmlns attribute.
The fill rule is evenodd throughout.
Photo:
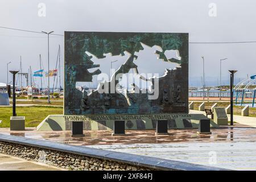
<svg viewBox="0 0 256 182"><path fill-rule="evenodd" d="M125 130L155 130L158 120L167 120L168 129L197 129L200 119L208 119L204 114L111 114L111 115L48 115L36 130L65 131L72 130L72 121L83 121L83 130L110 130L114 121L125 121ZM210 127L218 127L210 120Z"/></svg>

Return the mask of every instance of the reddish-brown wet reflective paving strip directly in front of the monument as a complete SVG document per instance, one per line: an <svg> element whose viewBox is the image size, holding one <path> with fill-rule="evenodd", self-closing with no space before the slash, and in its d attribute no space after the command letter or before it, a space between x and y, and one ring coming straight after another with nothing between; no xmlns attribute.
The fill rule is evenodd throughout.
<svg viewBox="0 0 256 182"><path fill-rule="evenodd" d="M19 137L51 140L53 142L79 146L99 144L133 144L133 143L198 143L198 142L255 142L256 129L237 125L236 127L219 127L211 129L212 134L199 135L197 129L168 130L169 135L155 135L155 130L126 130L125 136L112 137L109 130L84 131L85 137L71 137L71 131L10 131L0 129L1 134Z"/></svg>

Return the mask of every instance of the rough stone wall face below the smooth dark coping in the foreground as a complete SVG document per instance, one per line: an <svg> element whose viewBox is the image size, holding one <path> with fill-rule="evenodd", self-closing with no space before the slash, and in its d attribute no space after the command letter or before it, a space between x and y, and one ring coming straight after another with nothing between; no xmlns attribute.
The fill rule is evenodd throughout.
<svg viewBox="0 0 256 182"><path fill-rule="evenodd" d="M69 170L145 171L152 168L0 141L0 153Z"/></svg>

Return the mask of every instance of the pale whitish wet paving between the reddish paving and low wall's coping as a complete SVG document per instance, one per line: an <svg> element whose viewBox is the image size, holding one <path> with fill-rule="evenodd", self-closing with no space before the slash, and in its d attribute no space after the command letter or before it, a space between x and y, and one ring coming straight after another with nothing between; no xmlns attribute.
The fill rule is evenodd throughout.
<svg viewBox="0 0 256 182"><path fill-rule="evenodd" d="M251 142L113 144L87 147L232 170L256 170L256 145Z"/></svg>

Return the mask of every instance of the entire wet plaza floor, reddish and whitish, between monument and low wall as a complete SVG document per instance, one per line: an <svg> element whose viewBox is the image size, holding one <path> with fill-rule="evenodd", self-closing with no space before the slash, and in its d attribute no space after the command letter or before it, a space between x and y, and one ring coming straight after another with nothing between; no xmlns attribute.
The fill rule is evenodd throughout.
<svg viewBox="0 0 256 182"><path fill-rule="evenodd" d="M125 136L112 137L112 131L84 131L85 137L71 137L71 131L11 131L1 134L51 140L77 146L102 148L130 154L154 156L235 170L256 170L256 129L236 123L234 127L211 129L199 135L197 129L168 130L155 136L155 130L127 130Z"/></svg>

